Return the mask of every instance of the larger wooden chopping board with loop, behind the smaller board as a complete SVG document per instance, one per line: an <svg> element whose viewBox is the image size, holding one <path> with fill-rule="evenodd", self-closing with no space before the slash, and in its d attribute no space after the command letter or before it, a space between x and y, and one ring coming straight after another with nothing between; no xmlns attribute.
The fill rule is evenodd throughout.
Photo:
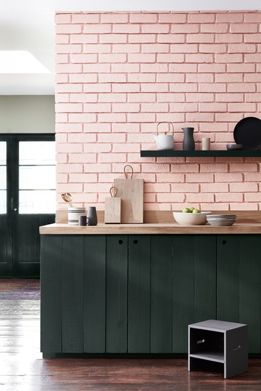
<svg viewBox="0 0 261 391"><path fill-rule="evenodd" d="M127 165L129 166L129 165ZM121 218L123 224L143 223L143 179L127 179L126 167L125 179L114 179L113 186L118 190L117 196L121 198Z"/></svg>

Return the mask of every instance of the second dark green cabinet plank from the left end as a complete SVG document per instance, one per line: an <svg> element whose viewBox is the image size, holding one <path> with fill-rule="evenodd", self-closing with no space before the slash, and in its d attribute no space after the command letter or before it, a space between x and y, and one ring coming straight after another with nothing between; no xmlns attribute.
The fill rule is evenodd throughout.
<svg viewBox="0 0 261 391"><path fill-rule="evenodd" d="M63 235L63 353L84 351L84 237Z"/></svg>

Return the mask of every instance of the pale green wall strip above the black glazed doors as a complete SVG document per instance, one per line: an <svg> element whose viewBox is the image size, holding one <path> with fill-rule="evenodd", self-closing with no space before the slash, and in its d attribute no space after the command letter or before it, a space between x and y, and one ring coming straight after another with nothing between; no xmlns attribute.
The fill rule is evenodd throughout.
<svg viewBox="0 0 261 391"><path fill-rule="evenodd" d="M54 95L0 95L0 133L54 132Z"/></svg>

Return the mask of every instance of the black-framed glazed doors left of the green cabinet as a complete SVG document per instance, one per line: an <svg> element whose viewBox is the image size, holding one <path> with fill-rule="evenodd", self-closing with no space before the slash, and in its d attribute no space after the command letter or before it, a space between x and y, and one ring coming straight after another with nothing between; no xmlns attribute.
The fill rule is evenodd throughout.
<svg viewBox="0 0 261 391"><path fill-rule="evenodd" d="M0 135L0 276L39 277L39 226L55 219L54 134Z"/></svg>

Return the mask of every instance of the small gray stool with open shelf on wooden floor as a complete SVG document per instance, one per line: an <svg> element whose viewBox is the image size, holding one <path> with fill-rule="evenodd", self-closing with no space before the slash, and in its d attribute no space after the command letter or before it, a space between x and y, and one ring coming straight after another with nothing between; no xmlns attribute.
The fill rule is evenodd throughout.
<svg viewBox="0 0 261 391"><path fill-rule="evenodd" d="M210 319L189 324L189 371L200 360L223 364L224 378L248 370L248 330L246 324Z"/></svg>

